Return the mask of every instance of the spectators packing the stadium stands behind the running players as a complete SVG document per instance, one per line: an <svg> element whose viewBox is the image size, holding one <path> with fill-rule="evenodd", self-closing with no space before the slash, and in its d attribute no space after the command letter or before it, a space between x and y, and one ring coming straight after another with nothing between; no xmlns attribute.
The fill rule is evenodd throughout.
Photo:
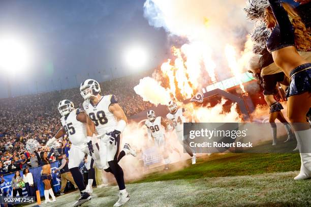
<svg viewBox="0 0 311 207"><path fill-rule="evenodd" d="M139 79L150 71L101 82L102 94L114 94L127 114L131 116L152 105L144 102L133 90ZM25 150L27 139L36 139L42 146L60 129L58 102L68 99L81 107L83 98L79 88L0 99L0 174L13 173L39 165L36 155ZM67 154L70 142L64 137L59 152ZM49 149L47 149L49 151ZM40 153L40 149L39 149ZM50 157L55 161L55 156Z"/></svg>

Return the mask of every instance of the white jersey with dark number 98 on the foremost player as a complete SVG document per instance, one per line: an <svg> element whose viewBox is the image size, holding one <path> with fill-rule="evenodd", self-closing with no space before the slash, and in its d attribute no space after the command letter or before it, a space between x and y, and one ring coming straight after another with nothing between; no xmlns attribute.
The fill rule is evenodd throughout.
<svg viewBox="0 0 311 207"><path fill-rule="evenodd" d="M93 105L89 100L83 102L83 109L94 124L99 135L106 134L115 130L117 120L112 112L109 111L109 106L117 102L114 95L103 96L97 105Z"/></svg>

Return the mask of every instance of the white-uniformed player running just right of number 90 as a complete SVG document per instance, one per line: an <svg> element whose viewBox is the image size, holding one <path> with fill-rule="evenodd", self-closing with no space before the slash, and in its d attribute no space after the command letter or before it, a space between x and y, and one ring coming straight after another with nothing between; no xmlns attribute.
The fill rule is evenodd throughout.
<svg viewBox="0 0 311 207"><path fill-rule="evenodd" d="M184 150L191 156L192 164L196 164L196 154L194 150L191 149L189 143L183 137L183 123L185 122L184 117L184 108L179 108L174 101L170 101L168 105L168 110L170 111L166 117L171 121L172 125L175 128L175 132L179 142L183 145Z"/></svg>

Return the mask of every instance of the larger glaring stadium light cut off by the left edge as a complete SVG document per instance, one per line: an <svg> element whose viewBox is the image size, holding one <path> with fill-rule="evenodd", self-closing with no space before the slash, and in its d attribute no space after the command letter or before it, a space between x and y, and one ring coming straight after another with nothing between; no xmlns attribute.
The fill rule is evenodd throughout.
<svg viewBox="0 0 311 207"><path fill-rule="evenodd" d="M31 55L27 45L15 37L0 37L0 70L14 74L30 65Z"/></svg>

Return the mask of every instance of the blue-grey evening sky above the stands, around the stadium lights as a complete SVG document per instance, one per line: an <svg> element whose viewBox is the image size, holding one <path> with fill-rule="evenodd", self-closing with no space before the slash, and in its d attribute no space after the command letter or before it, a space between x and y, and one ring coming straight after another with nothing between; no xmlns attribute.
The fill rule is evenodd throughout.
<svg viewBox="0 0 311 207"><path fill-rule="evenodd" d="M127 75L126 48L140 45L149 56L147 69L163 62L167 35L148 25L144 1L0 1L0 34L17 34L31 45L35 62L27 73L11 77L12 94L76 86L89 77L99 81ZM115 68L117 68L115 70ZM95 76L96 75L96 76ZM69 83L66 79L68 77ZM1 82L7 77L1 76ZM60 81L59 81L60 79ZM21 88L21 89L19 89ZM0 87L0 98L7 88Z"/></svg>

